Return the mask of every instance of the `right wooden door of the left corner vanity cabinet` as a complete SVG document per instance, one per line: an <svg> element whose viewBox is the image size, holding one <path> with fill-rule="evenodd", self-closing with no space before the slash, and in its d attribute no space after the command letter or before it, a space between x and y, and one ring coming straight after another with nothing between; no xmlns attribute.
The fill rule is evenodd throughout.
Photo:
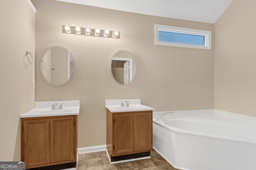
<svg viewBox="0 0 256 170"><path fill-rule="evenodd" d="M74 148L74 117L50 119L50 162L76 161Z"/></svg>

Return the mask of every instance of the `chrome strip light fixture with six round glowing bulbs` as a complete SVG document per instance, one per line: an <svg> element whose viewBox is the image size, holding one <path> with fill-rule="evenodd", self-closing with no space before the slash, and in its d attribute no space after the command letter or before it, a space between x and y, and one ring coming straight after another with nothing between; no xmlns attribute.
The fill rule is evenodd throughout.
<svg viewBox="0 0 256 170"><path fill-rule="evenodd" d="M92 29L83 27L73 27L69 25L62 25L62 33L80 34L80 35L90 35L96 37L109 37L109 38L120 38L119 31L110 31L108 29Z"/></svg>

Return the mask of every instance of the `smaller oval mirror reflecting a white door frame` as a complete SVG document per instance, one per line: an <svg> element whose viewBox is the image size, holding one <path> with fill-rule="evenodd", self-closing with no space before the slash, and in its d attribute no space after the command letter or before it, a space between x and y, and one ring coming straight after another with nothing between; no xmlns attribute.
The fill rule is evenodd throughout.
<svg viewBox="0 0 256 170"><path fill-rule="evenodd" d="M134 80L136 71L136 61L129 51L120 50L113 55L111 74L118 84L130 84Z"/></svg>

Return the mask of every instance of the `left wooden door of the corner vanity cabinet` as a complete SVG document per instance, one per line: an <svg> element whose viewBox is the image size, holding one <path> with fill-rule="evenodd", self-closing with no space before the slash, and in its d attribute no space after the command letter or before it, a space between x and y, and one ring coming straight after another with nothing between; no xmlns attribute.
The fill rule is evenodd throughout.
<svg viewBox="0 0 256 170"><path fill-rule="evenodd" d="M23 123L23 157L26 168L48 164L49 154L49 119L29 119Z"/></svg>

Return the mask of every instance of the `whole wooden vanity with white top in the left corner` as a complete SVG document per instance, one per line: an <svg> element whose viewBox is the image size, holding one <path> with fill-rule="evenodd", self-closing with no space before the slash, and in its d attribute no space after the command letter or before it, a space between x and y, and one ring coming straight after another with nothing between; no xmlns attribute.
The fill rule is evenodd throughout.
<svg viewBox="0 0 256 170"><path fill-rule="evenodd" d="M21 160L26 169L76 167L79 101L52 103L63 102L62 109L36 102L34 109L20 116Z"/></svg>

